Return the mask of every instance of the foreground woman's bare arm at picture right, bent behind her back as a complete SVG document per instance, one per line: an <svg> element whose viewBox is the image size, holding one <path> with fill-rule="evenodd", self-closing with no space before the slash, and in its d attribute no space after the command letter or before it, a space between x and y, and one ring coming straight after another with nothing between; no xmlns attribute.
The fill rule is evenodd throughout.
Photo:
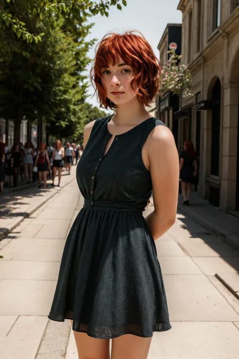
<svg viewBox="0 0 239 359"><path fill-rule="evenodd" d="M178 153L174 137L165 126L155 127L147 148L154 211L145 220L156 240L175 222L179 177Z"/></svg>

